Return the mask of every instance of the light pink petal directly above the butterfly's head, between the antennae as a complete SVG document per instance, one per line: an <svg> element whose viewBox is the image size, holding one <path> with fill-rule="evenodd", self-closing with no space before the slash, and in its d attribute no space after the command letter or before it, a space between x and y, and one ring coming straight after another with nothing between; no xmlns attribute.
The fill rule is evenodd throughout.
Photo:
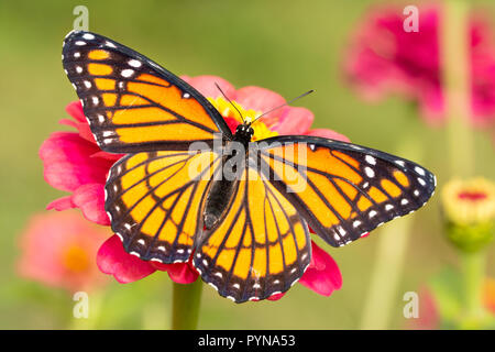
<svg viewBox="0 0 495 352"><path fill-rule="evenodd" d="M285 99L275 91L261 87L243 87L238 90L235 101L239 102L244 109L253 109L260 112L266 112L270 109L276 108L285 103ZM278 121L280 111L276 110L267 113L262 120L268 125Z"/></svg>

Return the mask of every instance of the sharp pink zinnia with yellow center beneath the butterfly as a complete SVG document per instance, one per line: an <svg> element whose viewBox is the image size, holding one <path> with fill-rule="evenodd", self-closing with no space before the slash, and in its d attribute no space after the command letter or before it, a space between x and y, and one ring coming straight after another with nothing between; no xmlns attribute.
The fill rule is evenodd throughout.
<svg viewBox="0 0 495 352"><path fill-rule="evenodd" d="M267 111L283 105L285 99L278 94L260 87L235 89L227 80L216 76L183 77L193 87L217 107L226 119L232 132L241 123L239 114L221 97L215 84L244 111ZM65 210L79 208L82 215L96 223L109 226L105 211L105 183L107 173L122 155L109 154L96 144L89 125L86 122L79 102L67 107L67 112L75 119L64 119L61 122L75 127L78 132L53 133L41 146L40 156L44 163L45 180L55 188L72 193L48 205L48 209ZM349 139L326 129L311 130L314 114L305 108L284 107L273 111L254 124L254 139L264 139L277 134L307 134L330 138L349 142ZM299 283L314 292L329 296L342 286L342 276L333 258L312 244L311 263ZM99 249L97 257L99 268L111 274L120 283L131 283L141 279L156 270L166 271L169 277L179 284L193 283L198 278L198 272L191 261L187 263L162 264L142 261L127 253L117 235L108 239ZM283 294L268 299L278 299Z"/></svg>

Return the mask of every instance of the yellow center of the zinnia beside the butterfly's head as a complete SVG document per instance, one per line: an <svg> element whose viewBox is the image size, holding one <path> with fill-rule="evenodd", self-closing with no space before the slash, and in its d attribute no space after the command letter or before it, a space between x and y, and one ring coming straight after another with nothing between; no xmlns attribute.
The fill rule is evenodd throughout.
<svg viewBox="0 0 495 352"><path fill-rule="evenodd" d="M239 112L232 107L232 105L223 99L222 97L218 97L217 99L208 98L208 100L213 105L215 108L221 113L221 116L227 119L234 119L239 123L243 123L242 118L239 116L239 112L241 112L241 116L244 118L245 122L254 121L256 117L261 114L260 111L256 110L246 110L244 109L240 103L237 101L232 101L232 105L238 108ZM272 131L270 127L267 127L263 121L257 120L254 121L254 123L251 125L254 130L253 140L264 140L271 136L278 135L277 132Z"/></svg>

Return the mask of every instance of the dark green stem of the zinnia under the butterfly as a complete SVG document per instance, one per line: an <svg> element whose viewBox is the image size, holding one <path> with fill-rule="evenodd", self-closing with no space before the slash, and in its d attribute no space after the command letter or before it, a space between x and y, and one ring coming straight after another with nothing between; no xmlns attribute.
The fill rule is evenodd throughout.
<svg viewBox="0 0 495 352"><path fill-rule="evenodd" d="M202 282L198 278L193 284L174 283L173 285L172 329L195 330L198 326Z"/></svg>

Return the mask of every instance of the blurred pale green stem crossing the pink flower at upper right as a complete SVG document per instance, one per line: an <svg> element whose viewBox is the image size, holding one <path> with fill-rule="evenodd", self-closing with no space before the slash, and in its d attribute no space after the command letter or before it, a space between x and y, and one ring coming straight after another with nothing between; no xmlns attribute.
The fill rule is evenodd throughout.
<svg viewBox="0 0 495 352"><path fill-rule="evenodd" d="M448 147L451 174L471 176L474 172L469 58L469 1L446 1L441 28L441 53L448 117Z"/></svg>

